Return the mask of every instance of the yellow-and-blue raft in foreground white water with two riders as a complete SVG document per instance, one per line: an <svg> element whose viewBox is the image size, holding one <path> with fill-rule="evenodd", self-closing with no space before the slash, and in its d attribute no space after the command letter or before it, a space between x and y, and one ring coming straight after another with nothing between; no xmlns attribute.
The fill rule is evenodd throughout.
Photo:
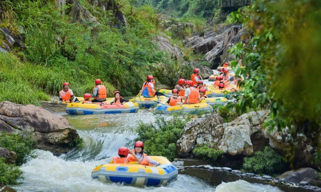
<svg viewBox="0 0 321 192"><path fill-rule="evenodd" d="M148 157L160 162L161 165L152 167L141 164L105 163L96 166L91 172L91 177L93 179L123 182L136 186L166 185L169 181L177 178L178 171L176 167L166 157Z"/></svg>

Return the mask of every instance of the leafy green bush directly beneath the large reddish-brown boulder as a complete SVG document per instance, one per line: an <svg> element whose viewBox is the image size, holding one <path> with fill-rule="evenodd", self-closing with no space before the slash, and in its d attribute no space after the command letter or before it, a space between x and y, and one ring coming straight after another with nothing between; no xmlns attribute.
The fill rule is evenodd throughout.
<svg viewBox="0 0 321 192"><path fill-rule="evenodd" d="M18 158L16 164L21 165L26 163L28 157L30 157L30 155L32 156L32 150L34 150L34 146L37 144L36 140L32 138L32 135L9 135L5 132L0 134L0 146L17 153Z"/></svg>

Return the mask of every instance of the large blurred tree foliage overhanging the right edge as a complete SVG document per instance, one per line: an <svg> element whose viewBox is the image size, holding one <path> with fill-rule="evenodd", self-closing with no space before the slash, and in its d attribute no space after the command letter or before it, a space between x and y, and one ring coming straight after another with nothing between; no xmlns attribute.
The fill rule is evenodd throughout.
<svg viewBox="0 0 321 192"><path fill-rule="evenodd" d="M236 75L249 75L241 83L235 108L269 108L270 130L287 126L294 139L304 133L318 146L316 161L321 157L320 7L315 0L255 1L243 17L254 37L249 45L237 44L230 50L246 66L232 62L238 66Z"/></svg>

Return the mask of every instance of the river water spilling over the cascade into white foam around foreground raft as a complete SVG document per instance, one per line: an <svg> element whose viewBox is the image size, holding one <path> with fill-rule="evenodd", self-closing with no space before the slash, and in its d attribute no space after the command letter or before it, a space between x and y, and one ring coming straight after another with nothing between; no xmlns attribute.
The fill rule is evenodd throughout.
<svg viewBox="0 0 321 192"><path fill-rule="evenodd" d="M25 179L12 186L18 191L280 191L276 187L250 184L244 180L222 183L216 188L188 175L178 174L165 187L134 187L91 179L92 169L117 155L117 149L135 138L140 121L153 123L154 115L146 109L138 113L105 115L64 115L84 140L84 147L54 156L36 149L36 158L21 166Z"/></svg>

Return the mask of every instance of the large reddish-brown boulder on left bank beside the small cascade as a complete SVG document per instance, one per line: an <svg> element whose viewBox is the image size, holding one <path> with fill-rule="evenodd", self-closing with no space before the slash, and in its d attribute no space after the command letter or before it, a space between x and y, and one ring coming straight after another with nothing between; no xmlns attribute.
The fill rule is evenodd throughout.
<svg viewBox="0 0 321 192"><path fill-rule="evenodd" d="M14 104L9 101L0 103L0 121L10 125L11 129L32 132L37 140L36 148L49 150L53 153L65 153L69 144L79 135L65 117L52 114L34 105ZM3 123L2 123L3 124ZM0 130L6 130L0 127Z"/></svg>

